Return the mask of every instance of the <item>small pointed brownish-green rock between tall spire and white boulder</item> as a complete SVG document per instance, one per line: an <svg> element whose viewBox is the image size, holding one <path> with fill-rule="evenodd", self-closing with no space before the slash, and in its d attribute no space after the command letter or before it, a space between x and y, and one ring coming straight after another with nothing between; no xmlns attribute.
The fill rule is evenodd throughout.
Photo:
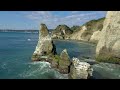
<svg viewBox="0 0 120 90"><path fill-rule="evenodd" d="M58 70L60 73L62 74L68 74L69 70L70 70L70 58L69 55L67 53L67 50L64 49L60 56L59 55L55 55L54 57L52 57L51 60L51 67L55 68L56 70Z"/></svg>

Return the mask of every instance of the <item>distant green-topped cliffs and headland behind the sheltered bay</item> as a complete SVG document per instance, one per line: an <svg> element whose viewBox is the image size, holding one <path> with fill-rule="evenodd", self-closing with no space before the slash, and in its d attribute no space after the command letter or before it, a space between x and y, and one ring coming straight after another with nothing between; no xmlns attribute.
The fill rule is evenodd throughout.
<svg viewBox="0 0 120 90"><path fill-rule="evenodd" d="M59 25L52 31L51 36L53 39L71 39L97 43L104 19L91 20L82 26L73 26L71 28L66 25Z"/></svg>

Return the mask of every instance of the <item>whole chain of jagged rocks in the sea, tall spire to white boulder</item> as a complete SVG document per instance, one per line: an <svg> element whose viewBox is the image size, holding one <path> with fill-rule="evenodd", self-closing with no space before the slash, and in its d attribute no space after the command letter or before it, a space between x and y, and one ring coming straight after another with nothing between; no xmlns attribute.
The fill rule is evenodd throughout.
<svg viewBox="0 0 120 90"><path fill-rule="evenodd" d="M82 63L76 59L71 62L66 49L60 55L57 54L56 47L45 24L41 24L39 40L32 60L49 62L51 68L62 74L69 74L71 79L88 79L91 76L89 72L91 68L88 63Z"/></svg>

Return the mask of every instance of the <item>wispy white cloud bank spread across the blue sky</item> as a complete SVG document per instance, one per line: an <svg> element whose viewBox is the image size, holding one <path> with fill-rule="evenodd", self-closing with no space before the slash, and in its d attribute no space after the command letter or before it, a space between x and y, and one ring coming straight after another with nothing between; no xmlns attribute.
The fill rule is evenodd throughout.
<svg viewBox="0 0 120 90"><path fill-rule="evenodd" d="M55 11L54 11L55 12ZM62 11L60 11L62 13ZM55 15L53 11L32 11L26 14L25 17L37 23L45 23L48 28L55 28L59 24L66 24L68 26L81 25L85 22L104 17L105 11L71 11L66 16Z"/></svg>

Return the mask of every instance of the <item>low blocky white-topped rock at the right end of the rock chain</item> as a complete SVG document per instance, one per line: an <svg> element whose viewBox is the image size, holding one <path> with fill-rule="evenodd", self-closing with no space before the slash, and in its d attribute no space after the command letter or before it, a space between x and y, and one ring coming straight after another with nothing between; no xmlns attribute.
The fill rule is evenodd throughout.
<svg viewBox="0 0 120 90"><path fill-rule="evenodd" d="M92 77L93 69L87 62L80 62L78 58L73 58L70 66L70 79L89 79Z"/></svg>

